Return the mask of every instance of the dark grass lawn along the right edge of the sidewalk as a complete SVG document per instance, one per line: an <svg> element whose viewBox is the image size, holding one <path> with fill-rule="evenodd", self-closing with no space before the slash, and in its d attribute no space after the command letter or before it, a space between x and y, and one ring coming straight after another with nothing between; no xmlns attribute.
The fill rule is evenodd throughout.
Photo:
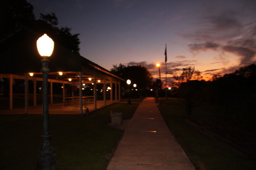
<svg viewBox="0 0 256 170"><path fill-rule="evenodd" d="M192 115L187 115L175 98L160 105L166 124L180 143L197 170L255 170L256 161L247 158L191 127L185 119L218 118L220 108L202 104Z"/></svg>

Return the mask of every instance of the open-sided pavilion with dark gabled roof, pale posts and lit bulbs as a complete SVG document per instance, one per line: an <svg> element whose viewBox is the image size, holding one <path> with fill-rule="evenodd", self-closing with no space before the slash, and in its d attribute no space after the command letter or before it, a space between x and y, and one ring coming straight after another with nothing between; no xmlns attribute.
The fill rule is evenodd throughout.
<svg viewBox="0 0 256 170"><path fill-rule="evenodd" d="M28 113L28 92L33 89L34 106L36 105L36 82L42 81L41 57L36 48L36 41L42 34L19 26L0 38L0 78L9 80L9 108L13 108L13 79L23 79L25 85L25 113ZM50 35L49 35L50 36ZM54 41L54 40L53 40ZM108 70L78 55L58 43L49 57L48 82L50 84L50 103L53 102L53 83L62 84L62 100L65 101L65 84L72 85L73 91L79 91L79 114L83 113L83 84L93 84L93 104L97 108L97 84L103 84L103 100L106 105L106 84L110 84L110 101L113 100L113 85L115 85L115 101L121 99L120 82L124 79L110 73ZM60 75L60 72L62 75ZM33 73L33 76L30 76ZM31 74L32 75L32 74ZM68 80L70 79L70 80ZM28 85L33 81L34 86ZM6 82L5 82L6 83ZM117 88L118 87L118 88ZM118 90L118 92L117 92Z"/></svg>

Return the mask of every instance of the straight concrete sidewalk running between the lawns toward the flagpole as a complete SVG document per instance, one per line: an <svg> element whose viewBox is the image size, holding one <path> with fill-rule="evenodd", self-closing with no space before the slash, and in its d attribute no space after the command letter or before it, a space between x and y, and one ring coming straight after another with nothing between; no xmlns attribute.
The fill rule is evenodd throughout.
<svg viewBox="0 0 256 170"><path fill-rule="evenodd" d="M107 170L195 170L164 122L153 98L127 124Z"/></svg>

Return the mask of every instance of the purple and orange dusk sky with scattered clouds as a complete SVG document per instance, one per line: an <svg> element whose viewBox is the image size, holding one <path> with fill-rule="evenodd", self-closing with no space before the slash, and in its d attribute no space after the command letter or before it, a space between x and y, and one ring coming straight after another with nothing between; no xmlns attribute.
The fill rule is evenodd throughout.
<svg viewBox="0 0 256 170"><path fill-rule="evenodd" d="M27 0L80 33L80 55L110 70L142 64L158 78L195 66L204 77L256 63L255 0ZM171 77L171 75L167 75ZM169 80L168 80L169 81Z"/></svg>

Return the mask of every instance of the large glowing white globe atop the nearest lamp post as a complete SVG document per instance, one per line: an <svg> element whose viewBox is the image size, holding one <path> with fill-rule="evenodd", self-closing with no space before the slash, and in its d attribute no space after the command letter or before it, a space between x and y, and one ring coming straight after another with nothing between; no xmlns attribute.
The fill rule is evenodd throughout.
<svg viewBox="0 0 256 170"><path fill-rule="evenodd" d="M43 56L43 58L47 58L52 55L54 42L47 34L44 34L42 37L38 38L36 46L38 53Z"/></svg>

